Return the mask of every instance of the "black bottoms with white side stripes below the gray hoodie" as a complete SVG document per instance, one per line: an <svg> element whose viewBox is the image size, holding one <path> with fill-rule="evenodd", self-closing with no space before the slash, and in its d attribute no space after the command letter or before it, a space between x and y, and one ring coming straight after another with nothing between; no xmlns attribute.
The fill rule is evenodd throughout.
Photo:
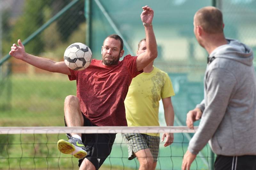
<svg viewBox="0 0 256 170"><path fill-rule="evenodd" d="M215 170L256 170L256 155L223 156L217 155Z"/></svg>

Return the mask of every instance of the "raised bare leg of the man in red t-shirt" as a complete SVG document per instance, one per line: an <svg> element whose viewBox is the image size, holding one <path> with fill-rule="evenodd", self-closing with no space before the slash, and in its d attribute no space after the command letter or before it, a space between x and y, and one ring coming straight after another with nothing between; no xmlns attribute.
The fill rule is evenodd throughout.
<svg viewBox="0 0 256 170"><path fill-rule="evenodd" d="M83 113L80 110L79 100L76 96L69 95L65 98L64 114L68 127L84 126ZM75 134L81 136L78 133L72 133L71 135Z"/></svg>

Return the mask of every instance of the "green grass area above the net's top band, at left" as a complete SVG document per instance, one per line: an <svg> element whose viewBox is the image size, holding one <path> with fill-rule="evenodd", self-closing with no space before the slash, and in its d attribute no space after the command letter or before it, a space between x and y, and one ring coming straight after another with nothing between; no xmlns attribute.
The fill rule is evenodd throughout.
<svg viewBox="0 0 256 170"><path fill-rule="evenodd" d="M1 110L1 126L63 126L65 97L76 95L76 81L68 76L12 76L11 95L4 87L0 102L11 98L10 106Z"/></svg>

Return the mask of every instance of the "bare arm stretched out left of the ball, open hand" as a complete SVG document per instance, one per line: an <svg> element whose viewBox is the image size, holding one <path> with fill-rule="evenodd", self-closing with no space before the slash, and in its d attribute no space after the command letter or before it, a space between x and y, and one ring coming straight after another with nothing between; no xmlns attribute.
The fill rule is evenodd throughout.
<svg viewBox="0 0 256 170"><path fill-rule="evenodd" d="M31 64L32 66L49 72L62 73L67 75L71 74L68 69L68 66L65 64L64 61L55 62L47 58L33 56L25 52L25 47L21 43L20 39L18 40L18 44L19 46L17 46L16 44L12 45L11 51L9 52L11 56L22 61L25 61L26 63Z"/></svg>

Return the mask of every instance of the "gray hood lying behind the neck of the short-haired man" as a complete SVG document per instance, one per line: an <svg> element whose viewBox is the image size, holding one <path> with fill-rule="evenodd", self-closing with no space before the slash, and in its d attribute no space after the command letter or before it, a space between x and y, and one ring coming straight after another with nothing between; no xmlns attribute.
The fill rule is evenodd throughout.
<svg viewBox="0 0 256 170"><path fill-rule="evenodd" d="M253 52L250 47L234 39L226 39L228 44L221 45L209 55L210 61L214 58L228 58L248 66L252 66Z"/></svg>

